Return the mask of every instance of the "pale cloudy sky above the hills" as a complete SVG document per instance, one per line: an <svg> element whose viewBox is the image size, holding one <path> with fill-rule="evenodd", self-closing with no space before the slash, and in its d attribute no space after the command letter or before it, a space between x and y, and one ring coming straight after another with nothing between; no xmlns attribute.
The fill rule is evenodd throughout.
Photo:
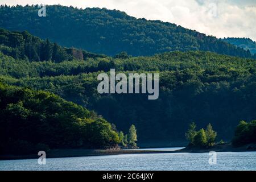
<svg viewBox="0 0 256 182"><path fill-rule="evenodd" d="M125 11L136 18L162 20L224 37L246 37L256 41L256 0L0 0L6 5L60 4L106 7Z"/></svg>

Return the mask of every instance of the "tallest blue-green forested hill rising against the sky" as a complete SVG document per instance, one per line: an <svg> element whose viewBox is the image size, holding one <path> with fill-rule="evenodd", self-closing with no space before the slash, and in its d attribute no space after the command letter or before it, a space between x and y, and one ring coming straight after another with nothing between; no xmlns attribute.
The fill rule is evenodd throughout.
<svg viewBox="0 0 256 182"><path fill-rule="evenodd" d="M110 56L121 51L139 56L201 50L251 57L250 51L213 36L160 20L137 19L117 10L55 5L46 7L46 17L39 17L38 10L38 6L1 6L0 27L14 31L27 30L61 46Z"/></svg>

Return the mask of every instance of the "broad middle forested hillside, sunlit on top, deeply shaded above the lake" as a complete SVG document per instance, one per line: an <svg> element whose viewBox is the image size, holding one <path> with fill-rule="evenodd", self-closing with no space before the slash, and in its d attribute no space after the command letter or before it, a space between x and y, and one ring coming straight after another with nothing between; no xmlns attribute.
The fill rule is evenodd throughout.
<svg viewBox="0 0 256 182"><path fill-rule="evenodd" d="M23 39L27 42L26 37ZM12 49L8 46L12 40L7 39L2 47ZM42 45L48 42L49 52L53 51L53 43L39 42ZM59 49L67 50L61 46ZM216 140L231 140L239 121L256 118L256 61L253 59L202 51L139 57L125 52L114 57L90 53L94 56L83 56L83 59L66 53L65 60L59 62L52 57L34 60L28 56L30 53L15 59L1 51L0 78L5 84L38 92L46 90L94 110L114 123L117 127L112 128L116 131L128 134L134 124L139 146L185 142L184 133L191 122L200 128L212 123L218 133ZM148 101L146 94L98 94L97 76L109 72L110 68L115 68L117 73L159 73L158 100Z"/></svg>

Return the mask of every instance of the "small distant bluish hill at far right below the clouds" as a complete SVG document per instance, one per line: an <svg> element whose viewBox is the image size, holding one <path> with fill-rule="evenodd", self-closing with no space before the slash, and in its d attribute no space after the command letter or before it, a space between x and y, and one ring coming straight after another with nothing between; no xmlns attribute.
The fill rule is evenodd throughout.
<svg viewBox="0 0 256 182"><path fill-rule="evenodd" d="M245 50L249 50L252 55L256 53L256 42L249 38L224 38L222 40Z"/></svg>

